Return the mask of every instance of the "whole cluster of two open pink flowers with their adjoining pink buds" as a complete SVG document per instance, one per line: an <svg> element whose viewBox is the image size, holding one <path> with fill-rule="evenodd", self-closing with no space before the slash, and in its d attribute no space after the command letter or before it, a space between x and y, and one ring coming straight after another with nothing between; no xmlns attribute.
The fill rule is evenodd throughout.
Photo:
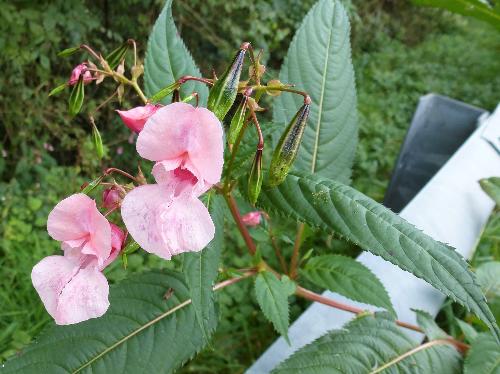
<svg viewBox="0 0 500 374"><path fill-rule="evenodd" d="M139 133L139 155L155 162L156 183L135 187L122 201L119 191L106 190L103 207L121 205L128 233L147 252L168 260L202 250L215 233L199 197L221 178L220 121L206 108L181 102L119 114ZM102 316L109 307L109 286L102 271L120 253L124 232L82 193L56 205L47 230L61 242L64 255L46 257L33 268L33 285L45 308L61 325Z"/></svg>

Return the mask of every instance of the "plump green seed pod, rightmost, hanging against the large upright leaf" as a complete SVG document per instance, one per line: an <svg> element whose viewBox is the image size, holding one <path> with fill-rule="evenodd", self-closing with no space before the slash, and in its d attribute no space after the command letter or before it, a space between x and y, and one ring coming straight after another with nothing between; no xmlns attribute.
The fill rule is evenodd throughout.
<svg viewBox="0 0 500 374"><path fill-rule="evenodd" d="M275 187L285 180L297 157L302 135L306 128L309 109L310 99L306 98L304 105L295 114L285 132L281 135L269 168L269 185L271 187Z"/></svg>

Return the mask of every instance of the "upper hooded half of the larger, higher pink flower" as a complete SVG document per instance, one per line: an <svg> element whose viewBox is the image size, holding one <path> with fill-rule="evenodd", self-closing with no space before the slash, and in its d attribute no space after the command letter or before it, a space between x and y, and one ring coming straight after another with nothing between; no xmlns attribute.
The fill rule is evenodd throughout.
<svg viewBox="0 0 500 374"><path fill-rule="evenodd" d="M139 134L136 148L143 158L157 161L153 175L159 183L183 174L199 196L220 181L222 125L206 108L173 103L158 109Z"/></svg>

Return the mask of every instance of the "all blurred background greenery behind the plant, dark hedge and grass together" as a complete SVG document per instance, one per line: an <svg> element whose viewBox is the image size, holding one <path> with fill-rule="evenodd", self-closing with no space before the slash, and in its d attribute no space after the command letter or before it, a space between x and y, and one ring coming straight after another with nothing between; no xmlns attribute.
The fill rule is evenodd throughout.
<svg viewBox="0 0 500 374"><path fill-rule="evenodd" d="M205 75L212 68L220 71L221 64L248 40L265 49L266 78L272 79L294 30L313 3L178 0L174 1L174 18ZM415 7L405 0L344 3L352 23L360 112L353 184L380 201L421 95L436 92L488 110L497 105L500 33L487 24ZM78 57L62 59L56 54L83 42L104 54L127 38L137 40L143 53L162 5L161 0L0 1L0 361L49 322L30 281L32 266L57 249L45 231L48 212L103 167L133 170L138 161L133 137L112 110L120 108L117 102L96 116L106 157L101 163L94 160L87 118L69 117L68 94L47 96L80 62ZM86 110L91 111L111 92L104 84L88 86L86 93ZM135 103L135 99L125 99L122 107ZM495 222L498 230L498 219ZM282 234L279 223L273 229L283 243L291 241ZM265 235L259 230L252 235L262 241ZM234 232L231 226L228 232ZM498 231L488 233L481 248L498 248ZM309 247L353 253L335 240L318 242L314 238L309 233ZM239 236L230 235L226 245L231 248L225 254L231 264L246 266ZM269 243L261 245L264 252L269 247ZM498 261L498 250L495 253ZM129 270L159 266L151 257L130 256ZM112 280L124 276L120 267L117 263L109 270ZM220 293L223 317L214 348L184 371L242 372L274 339L272 327L258 309L241 303L248 299L251 288L247 282ZM292 318L305 304L293 305Z"/></svg>

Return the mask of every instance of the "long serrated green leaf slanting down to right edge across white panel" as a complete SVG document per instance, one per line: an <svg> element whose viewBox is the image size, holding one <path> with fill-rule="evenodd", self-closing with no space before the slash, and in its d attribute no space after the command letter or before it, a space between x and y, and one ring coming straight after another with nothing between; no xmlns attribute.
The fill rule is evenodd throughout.
<svg viewBox="0 0 500 374"><path fill-rule="evenodd" d="M337 233L424 279L472 310L497 337L500 335L476 277L460 254L355 189L296 173L276 188L263 189L259 202L268 213Z"/></svg>

